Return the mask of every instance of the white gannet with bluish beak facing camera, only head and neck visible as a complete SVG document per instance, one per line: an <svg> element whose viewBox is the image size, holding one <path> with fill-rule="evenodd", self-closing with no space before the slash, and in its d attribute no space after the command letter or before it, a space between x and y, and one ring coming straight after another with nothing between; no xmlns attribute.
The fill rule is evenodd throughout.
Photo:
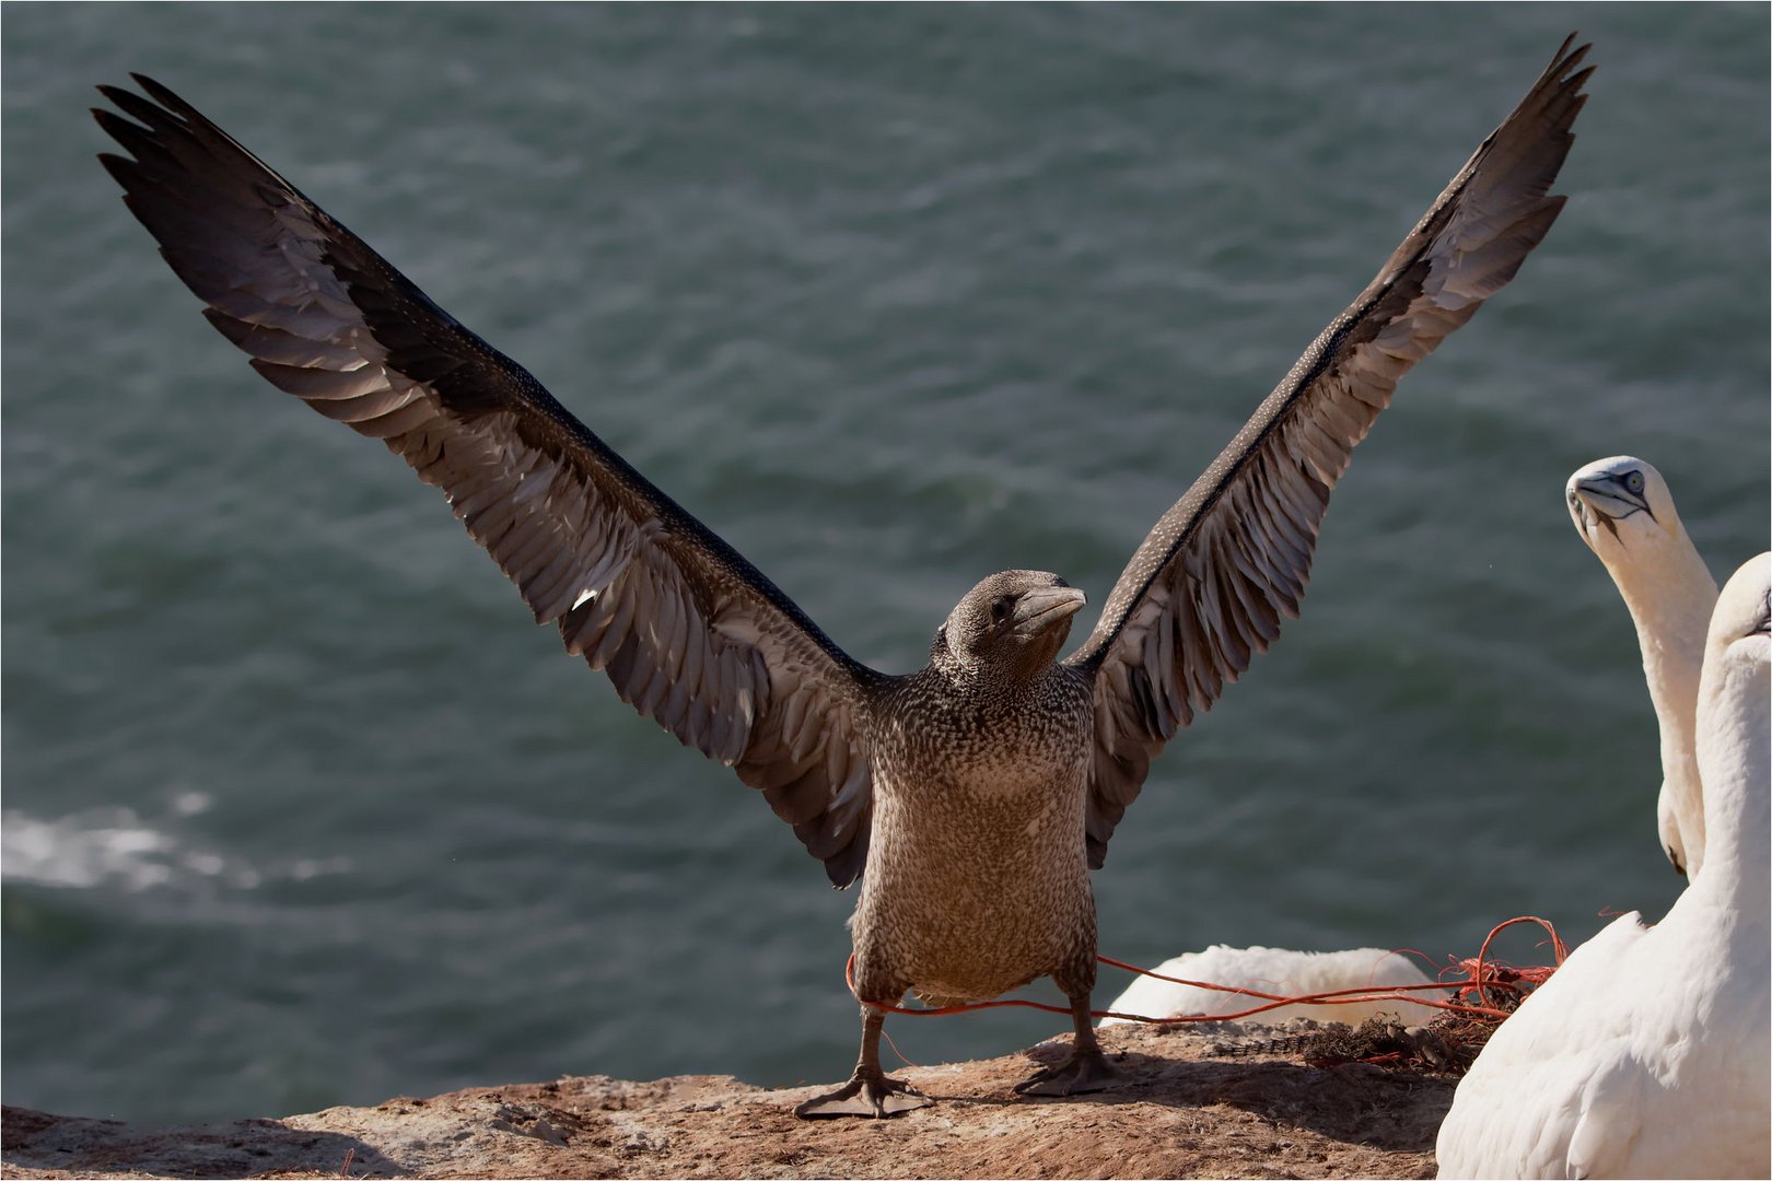
<svg viewBox="0 0 1772 1181"><path fill-rule="evenodd" d="M1705 797L1692 754L1698 675L1717 583L1685 535L1667 482L1634 455L1600 459L1568 478L1568 515L1618 584L1643 648L1643 678L1660 721L1662 790L1655 807L1673 868L1705 862Z"/></svg>

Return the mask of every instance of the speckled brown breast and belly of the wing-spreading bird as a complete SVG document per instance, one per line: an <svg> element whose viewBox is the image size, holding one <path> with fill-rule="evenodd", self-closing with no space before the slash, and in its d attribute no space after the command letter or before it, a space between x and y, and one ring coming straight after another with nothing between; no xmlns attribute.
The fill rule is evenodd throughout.
<svg viewBox="0 0 1772 1181"><path fill-rule="evenodd" d="M1086 990L1088 682L1053 666L1014 698L980 698L913 680L881 721L874 841L851 919L861 995L978 1000L1040 976Z"/></svg>

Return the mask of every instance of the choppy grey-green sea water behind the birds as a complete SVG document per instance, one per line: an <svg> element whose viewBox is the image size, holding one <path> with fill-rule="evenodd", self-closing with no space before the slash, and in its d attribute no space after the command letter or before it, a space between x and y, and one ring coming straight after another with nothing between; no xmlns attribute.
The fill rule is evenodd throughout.
<svg viewBox="0 0 1772 1181"><path fill-rule="evenodd" d="M1675 896L1561 489L1637 453L1719 581L1767 545L1763 7L9 5L5 1100L817 1082L856 1036L851 896L209 331L92 83L186 94L905 671L991 570L1099 604L1575 25L1563 220L1115 838L1102 947L1141 961ZM897 1025L941 1061L1063 1020Z"/></svg>

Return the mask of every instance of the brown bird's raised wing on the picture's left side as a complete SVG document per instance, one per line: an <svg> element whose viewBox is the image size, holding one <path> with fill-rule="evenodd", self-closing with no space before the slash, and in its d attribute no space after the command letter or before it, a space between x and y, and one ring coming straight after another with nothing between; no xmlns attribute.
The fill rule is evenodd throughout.
<svg viewBox="0 0 1772 1181"><path fill-rule="evenodd" d="M519 365L191 104L99 87L133 159L99 159L252 367L381 439L443 489L567 652L624 701L732 765L836 885L867 862L867 689L730 545L629 467Z"/></svg>

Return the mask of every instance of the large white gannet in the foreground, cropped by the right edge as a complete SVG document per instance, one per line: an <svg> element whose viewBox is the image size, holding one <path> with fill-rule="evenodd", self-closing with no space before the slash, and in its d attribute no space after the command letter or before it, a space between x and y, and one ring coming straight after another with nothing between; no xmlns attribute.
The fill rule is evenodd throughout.
<svg viewBox="0 0 1772 1181"><path fill-rule="evenodd" d="M1705 873L1627 914L1503 1022L1439 1131L1442 1177L1772 1176L1772 554L1717 600L1698 698Z"/></svg>

